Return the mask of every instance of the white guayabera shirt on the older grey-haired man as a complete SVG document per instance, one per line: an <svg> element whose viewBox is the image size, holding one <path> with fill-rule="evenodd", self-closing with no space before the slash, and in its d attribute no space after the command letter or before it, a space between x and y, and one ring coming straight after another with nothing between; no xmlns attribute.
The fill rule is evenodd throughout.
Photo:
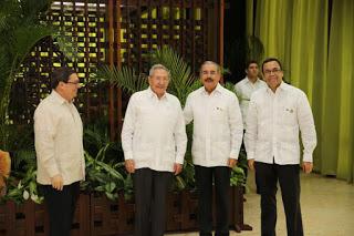
<svg viewBox="0 0 354 236"><path fill-rule="evenodd" d="M187 135L178 99L163 98L148 88L129 100L122 129L125 160L134 160L135 168L173 172L174 163L184 163Z"/></svg>

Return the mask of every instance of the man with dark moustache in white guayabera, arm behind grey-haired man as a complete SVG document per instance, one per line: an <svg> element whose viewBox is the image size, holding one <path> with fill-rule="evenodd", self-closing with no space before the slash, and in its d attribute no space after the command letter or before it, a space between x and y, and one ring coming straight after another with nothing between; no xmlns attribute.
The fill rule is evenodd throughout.
<svg viewBox="0 0 354 236"><path fill-rule="evenodd" d="M212 183L216 189L216 235L229 235L230 171L237 164L243 125L237 96L220 84L220 66L206 61L200 68L204 86L190 93L184 110L194 121L191 155L198 188L201 236L212 234Z"/></svg>

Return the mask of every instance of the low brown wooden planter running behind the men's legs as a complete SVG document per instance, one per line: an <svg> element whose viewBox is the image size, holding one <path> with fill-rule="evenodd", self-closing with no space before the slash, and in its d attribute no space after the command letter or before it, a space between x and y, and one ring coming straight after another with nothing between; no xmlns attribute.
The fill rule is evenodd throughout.
<svg viewBox="0 0 354 236"><path fill-rule="evenodd" d="M230 226L236 232L251 229L243 224L242 187L230 187ZM198 198L195 192L170 193L167 199L167 232L198 229ZM81 194L71 236L124 236L134 230L134 203L123 195L115 202L105 196ZM44 204L0 205L0 236L48 236L49 216Z"/></svg>

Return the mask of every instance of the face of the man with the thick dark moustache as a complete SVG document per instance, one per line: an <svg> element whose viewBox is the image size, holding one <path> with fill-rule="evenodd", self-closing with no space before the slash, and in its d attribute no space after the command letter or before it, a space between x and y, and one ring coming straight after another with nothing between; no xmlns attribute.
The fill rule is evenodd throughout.
<svg viewBox="0 0 354 236"><path fill-rule="evenodd" d="M205 64L200 70L200 81L205 90L210 94L217 88L221 74L215 64Z"/></svg>

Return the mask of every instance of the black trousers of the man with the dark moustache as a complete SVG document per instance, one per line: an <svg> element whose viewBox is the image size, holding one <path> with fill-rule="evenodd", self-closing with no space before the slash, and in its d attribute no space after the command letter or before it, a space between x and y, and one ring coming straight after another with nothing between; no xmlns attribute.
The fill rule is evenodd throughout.
<svg viewBox="0 0 354 236"><path fill-rule="evenodd" d="M198 188L199 235L211 236L212 232L212 179L216 189L216 236L229 235L230 168L227 166L204 167L196 165Z"/></svg>

